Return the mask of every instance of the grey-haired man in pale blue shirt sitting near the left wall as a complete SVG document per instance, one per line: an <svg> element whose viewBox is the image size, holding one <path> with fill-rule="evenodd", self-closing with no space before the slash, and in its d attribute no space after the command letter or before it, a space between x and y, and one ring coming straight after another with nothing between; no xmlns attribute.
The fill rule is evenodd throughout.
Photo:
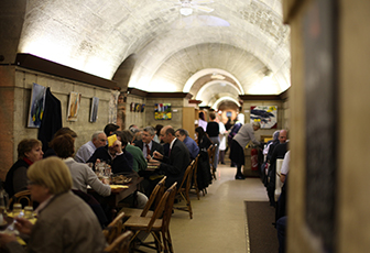
<svg viewBox="0 0 370 253"><path fill-rule="evenodd" d="M91 141L88 141L78 148L75 155L75 161L78 163L86 163L86 161L91 157L96 148L105 145L107 145L107 135L105 132L95 132L91 136Z"/></svg>

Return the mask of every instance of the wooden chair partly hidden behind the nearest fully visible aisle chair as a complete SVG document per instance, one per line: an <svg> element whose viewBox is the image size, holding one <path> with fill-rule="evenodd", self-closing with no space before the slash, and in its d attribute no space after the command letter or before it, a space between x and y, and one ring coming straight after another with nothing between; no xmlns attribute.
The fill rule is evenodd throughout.
<svg viewBox="0 0 370 253"><path fill-rule="evenodd" d="M159 184L154 187L151 196L148 199L148 202L145 204L145 207L143 209L137 209L137 208L122 208L120 212L124 212L124 217L131 217L131 216L141 216L141 217L152 217L153 211L149 210L151 206L154 204L154 209L157 206L159 201L161 200L164 189L165 189L165 179L166 176L164 176Z"/></svg>

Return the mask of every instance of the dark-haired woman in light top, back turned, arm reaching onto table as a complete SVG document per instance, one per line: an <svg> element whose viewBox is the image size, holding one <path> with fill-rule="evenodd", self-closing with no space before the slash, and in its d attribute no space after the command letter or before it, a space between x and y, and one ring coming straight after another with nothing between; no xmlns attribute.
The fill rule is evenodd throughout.
<svg viewBox="0 0 370 253"><path fill-rule="evenodd" d="M55 151L56 155L64 160L64 163L68 166L73 180L73 189L87 193L87 186L101 196L110 195L110 186L108 182L101 183L92 169L83 163L77 163L73 158L75 153L75 140L69 134L59 135L53 139L51 147Z"/></svg>

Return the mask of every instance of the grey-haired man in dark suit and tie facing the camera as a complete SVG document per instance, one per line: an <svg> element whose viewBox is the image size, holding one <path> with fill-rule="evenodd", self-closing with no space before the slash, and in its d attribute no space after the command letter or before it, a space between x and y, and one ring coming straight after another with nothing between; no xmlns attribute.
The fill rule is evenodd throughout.
<svg viewBox="0 0 370 253"><path fill-rule="evenodd" d="M153 152L157 151L162 155L164 154L163 146L160 143L153 141L155 131L153 127L144 128L142 132L142 140L135 143L135 146L143 151L144 157L149 161L153 156Z"/></svg>

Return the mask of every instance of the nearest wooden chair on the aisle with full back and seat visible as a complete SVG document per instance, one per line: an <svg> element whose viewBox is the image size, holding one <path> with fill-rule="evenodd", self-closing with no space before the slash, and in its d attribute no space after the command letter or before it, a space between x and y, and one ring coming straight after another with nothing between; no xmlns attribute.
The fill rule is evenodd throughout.
<svg viewBox="0 0 370 253"><path fill-rule="evenodd" d="M130 217L124 222L124 229L134 231L130 242L130 248L146 246L157 252L173 252L172 240L170 235L170 220L172 216L173 202L176 195L176 184L174 183L162 196L152 217ZM153 242L141 242L138 234L144 231L151 233ZM162 235L162 237L161 237ZM163 239L163 243L162 243ZM154 244L155 246L152 246Z"/></svg>

